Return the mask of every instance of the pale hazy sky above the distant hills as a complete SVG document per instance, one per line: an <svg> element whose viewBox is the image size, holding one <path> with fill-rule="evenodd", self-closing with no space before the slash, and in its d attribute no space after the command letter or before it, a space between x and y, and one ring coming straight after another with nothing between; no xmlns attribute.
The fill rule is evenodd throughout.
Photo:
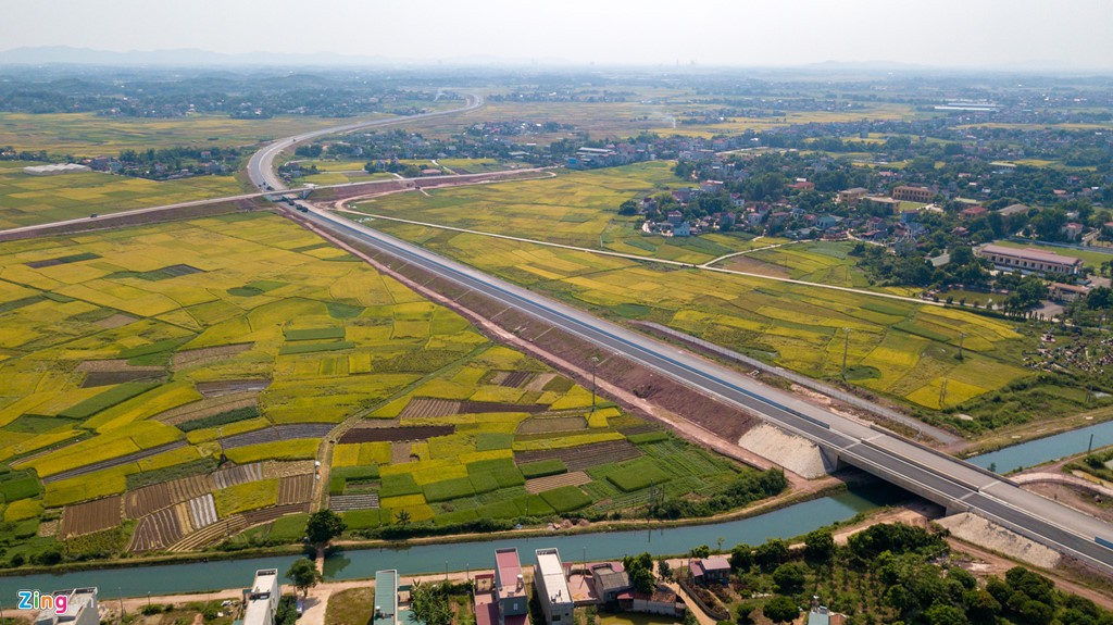
<svg viewBox="0 0 1113 625"><path fill-rule="evenodd" d="M199 48L422 61L1113 69L1111 0L6 1L0 49Z"/></svg>

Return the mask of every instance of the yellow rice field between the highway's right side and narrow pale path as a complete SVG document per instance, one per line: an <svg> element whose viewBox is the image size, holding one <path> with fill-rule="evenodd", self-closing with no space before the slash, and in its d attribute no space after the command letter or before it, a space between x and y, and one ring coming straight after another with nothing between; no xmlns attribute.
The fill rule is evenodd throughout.
<svg viewBox="0 0 1113 625"><path fill-rule="evenodd" d="M1026 339L1006 321L965 310L383 220L374 227L590 310L664 324L816 378L840 377L849 328L847 364L857 373L849 381L920 408L957 406L1027 375ZM792 277L858 286L844 248L817 242L754 255Z"/></svg>

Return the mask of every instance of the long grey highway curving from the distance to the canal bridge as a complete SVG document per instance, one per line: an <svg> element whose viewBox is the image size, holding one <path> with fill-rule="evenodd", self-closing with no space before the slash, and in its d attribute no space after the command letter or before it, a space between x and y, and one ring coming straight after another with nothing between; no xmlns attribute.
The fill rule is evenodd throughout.
<svg viewBox="0 0 1113 625"><path fill-rule="evenodd" d="M416 117L452 115L481 105L482 98L474 97L466 107ZM252 157L248 173L260 188L269 185L282 189L282 181L270 168L284 148L323 135L408 119L415 118L354 123L280 139ZM1006 478L963 460L844 418L691 353L348 221L309 202L298 205L308 211L309 219L323 228L358 239L707 395L758 414L788 431L815 442L847 464L946 506L948 512L975 512L1105 573L1113 573L1113 548L1102 546L1095 539L1113 542L1110 524L1028 493Z"/></svg>

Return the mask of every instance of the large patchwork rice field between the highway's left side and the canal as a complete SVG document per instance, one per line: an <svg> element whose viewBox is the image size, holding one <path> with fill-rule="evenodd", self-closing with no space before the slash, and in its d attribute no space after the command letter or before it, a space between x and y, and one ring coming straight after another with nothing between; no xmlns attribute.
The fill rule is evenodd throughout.
<svg viewBox="0 0 1113 625"><path fill-rule="evenodd" d="M560 477L575 463L523 473L515 454L643 455L619 431L637 419L589 414L590 393L546 365L326 249L269 214L0 245L6 517L63 518L49 540L119 525L134 552L205 548L304 513L306 472L337 436L325 477L353 527L371 510L540 519L599 504L598 480ZM526 475L553 487L531 494ZM648 497L624 486L628 508Z"/></svg>

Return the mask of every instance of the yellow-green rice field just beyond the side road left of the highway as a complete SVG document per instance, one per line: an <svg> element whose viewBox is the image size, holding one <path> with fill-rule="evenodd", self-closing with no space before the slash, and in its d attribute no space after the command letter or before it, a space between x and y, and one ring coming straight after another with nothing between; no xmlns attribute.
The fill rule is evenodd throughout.
<svg viewBox="0 0 1113 625"><path fill-rule="evenodd" d="M0 140L0 145L4 145ZM0 229L243 194L232 176L155 181L99 171L31 176L0 169Z"/></svg>

